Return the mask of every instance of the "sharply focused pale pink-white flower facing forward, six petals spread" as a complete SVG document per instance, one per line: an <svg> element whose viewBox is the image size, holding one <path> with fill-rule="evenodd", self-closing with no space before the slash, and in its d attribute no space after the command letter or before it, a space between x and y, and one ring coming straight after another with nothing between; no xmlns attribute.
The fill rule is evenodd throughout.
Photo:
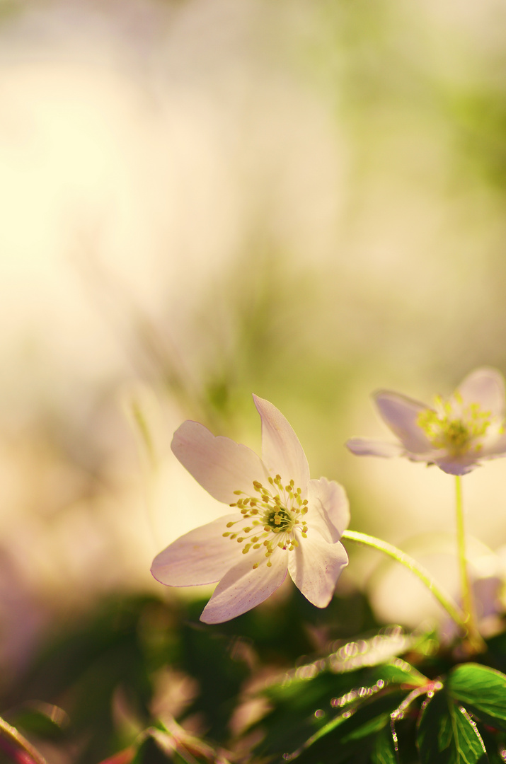
<svg viewBox="0 0 506 764"><path fill-rule="evenodd" d="M230 513L196 528L154 558L151 572L168 586L219 581L203 610L222 623L269 597L290 573L317 607L326 607L348 556L339 542L349 523L343 488L310 480L309 465L287 419L253 396L261 416L262 458L187 421L174 434L181 464Z"/></svg>

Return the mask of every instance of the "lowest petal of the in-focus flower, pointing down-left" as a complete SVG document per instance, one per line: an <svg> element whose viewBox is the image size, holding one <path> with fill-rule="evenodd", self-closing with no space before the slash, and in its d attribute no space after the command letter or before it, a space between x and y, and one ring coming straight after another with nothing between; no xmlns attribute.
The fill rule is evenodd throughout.
<svg viewBox="0 0 506 764"><path fill-rule="evenodd" d="M223 623L240 616L260 604L281 586L287 576L287 554L276 550L269 568L264 552L251 552L226 573L203 610L200 620L204 623ZM253 564L258 562L258 568Z"/></svg>

